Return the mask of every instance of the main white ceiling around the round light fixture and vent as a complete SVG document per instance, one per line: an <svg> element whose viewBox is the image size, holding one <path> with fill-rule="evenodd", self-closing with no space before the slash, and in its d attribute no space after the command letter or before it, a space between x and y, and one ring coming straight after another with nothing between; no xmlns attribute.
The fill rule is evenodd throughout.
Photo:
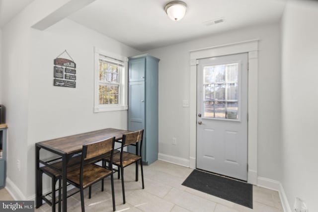
<svg viewBox="0 0 318 212"><path fill-rule="evenodd" d="M169 0L96 0L70 19L140 51L245 26L279 21L285 0L184 0L185 17L172 21ZM224 17L223 23L203 22Z"/></svg>

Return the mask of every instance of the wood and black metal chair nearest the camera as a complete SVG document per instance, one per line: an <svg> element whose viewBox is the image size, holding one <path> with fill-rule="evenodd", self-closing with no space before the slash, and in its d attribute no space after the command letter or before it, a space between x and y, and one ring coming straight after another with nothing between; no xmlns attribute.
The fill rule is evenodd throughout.
<svg viewBox="0 0 318 212"><path fill-rule="evenodd" d="M109 156L110 161L113 160L114 143L115 137L109 138L105 141L97 141L83 145L80 168L72 169L67 173L68 181L72 185L80 189L80 202L82 212L85 211L83 190L100 180L102 181L103 188L104 178L108 176L111 177L113 211L115 211L114 179L112 166L102 167L95 164L95 162L100 161L102 158L104 158L109 151L111 152Z"/></svg>

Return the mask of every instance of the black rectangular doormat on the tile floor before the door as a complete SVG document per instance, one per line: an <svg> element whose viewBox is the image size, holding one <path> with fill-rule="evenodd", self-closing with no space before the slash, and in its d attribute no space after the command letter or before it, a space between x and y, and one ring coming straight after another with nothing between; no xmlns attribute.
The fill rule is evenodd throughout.
<svg viewBox="0 0 318 212"><path fill-rule="evenodd" d="M182 185L253 209L251 184L193 170Z"/></svg>

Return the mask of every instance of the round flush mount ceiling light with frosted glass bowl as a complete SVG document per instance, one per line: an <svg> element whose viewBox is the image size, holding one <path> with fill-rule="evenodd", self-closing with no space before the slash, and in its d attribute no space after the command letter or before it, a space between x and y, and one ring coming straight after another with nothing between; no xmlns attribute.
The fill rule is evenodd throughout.
<svg viewBox="0 0 318 212"><path fill-rule="evenodd" d="M164 11L174 21L181 20L187 9L187 4L180 0L174 0L164 6Z"/></svg>

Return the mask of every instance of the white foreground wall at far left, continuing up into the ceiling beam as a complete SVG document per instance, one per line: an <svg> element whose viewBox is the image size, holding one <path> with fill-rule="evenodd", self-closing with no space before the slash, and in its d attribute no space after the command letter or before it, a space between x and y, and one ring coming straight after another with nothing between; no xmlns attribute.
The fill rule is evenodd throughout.
<svg viewBox="0 0 318 212"><path fill-rule="evenodd" d="M30 26L69 0L34 0L2 27L2 104L8 124L6 187L18 199L27 194L27 131L30 69ZM41 8L41 9L38 9ZM20 161L20 170L17 161ZM34 182L34 180L30 181Z"/></svg>

